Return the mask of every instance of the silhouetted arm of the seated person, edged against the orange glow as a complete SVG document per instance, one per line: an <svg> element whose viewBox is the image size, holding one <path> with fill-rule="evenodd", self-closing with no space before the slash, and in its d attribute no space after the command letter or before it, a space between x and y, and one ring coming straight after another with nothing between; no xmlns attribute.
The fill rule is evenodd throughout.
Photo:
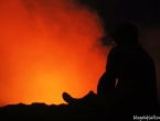
<svg viewBox="0 0 160 121"><path fill-rule="evenodd" d="M117 76L117 54L115 50L111 50L108 54L106 72L100 77L97 86L97 94L108 94L114 90Z"/></svg>

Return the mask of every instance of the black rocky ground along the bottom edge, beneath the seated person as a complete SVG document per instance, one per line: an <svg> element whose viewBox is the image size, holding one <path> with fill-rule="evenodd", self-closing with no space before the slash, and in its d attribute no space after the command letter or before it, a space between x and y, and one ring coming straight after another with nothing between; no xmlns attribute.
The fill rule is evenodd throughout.
<svg viewBox="0 0 160 121"><path fill-rule="evenodd" d="M122 110L121 110L122 111ZM120 112L119 112L120 113ZM159 114L160 117L160 114ZM32 103L9 105L0 108L0 121L119 121L132 116L109 117L105 111L87 106Z"/></svg>

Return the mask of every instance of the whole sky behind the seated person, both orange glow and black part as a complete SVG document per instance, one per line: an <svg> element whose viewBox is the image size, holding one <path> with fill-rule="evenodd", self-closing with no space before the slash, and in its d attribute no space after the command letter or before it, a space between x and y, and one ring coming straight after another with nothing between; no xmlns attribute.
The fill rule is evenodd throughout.
<svg viewBox="0 0 160 121"><path fill-rule="evenodd" d="M119 23L139 29L156 63L160 99L159 0L0 0L0 106L82 97L105 70Z"/></svg>

